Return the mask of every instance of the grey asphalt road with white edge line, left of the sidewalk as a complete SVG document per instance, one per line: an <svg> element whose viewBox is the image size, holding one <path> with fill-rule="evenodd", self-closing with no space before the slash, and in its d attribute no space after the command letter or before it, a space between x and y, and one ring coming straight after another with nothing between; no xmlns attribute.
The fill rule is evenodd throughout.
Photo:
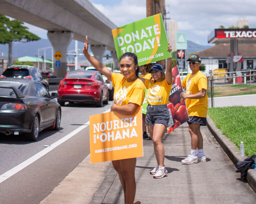
<svg viewBox="0 0 256 204"><path fill-rule="evenodd" d="M51 92L57 92L56 89L57 86L50 86ZM24 141L22 135L0 135L0 203L38 204L43 200L89 154L89 126L84 124L90 115L110 109L110 104L111 101L96 108L66 103L59 131L43 130L36 142ZM74 132L76 129L79 130ZM60 142L68 136L72 137ZM38 155L56 143L61 144L43 156ZM26 166L31 157L36 157L35 161ZM17 173L9 176L10 170L18 167ZM6 172L10 173L3 180Z"/></svg>

